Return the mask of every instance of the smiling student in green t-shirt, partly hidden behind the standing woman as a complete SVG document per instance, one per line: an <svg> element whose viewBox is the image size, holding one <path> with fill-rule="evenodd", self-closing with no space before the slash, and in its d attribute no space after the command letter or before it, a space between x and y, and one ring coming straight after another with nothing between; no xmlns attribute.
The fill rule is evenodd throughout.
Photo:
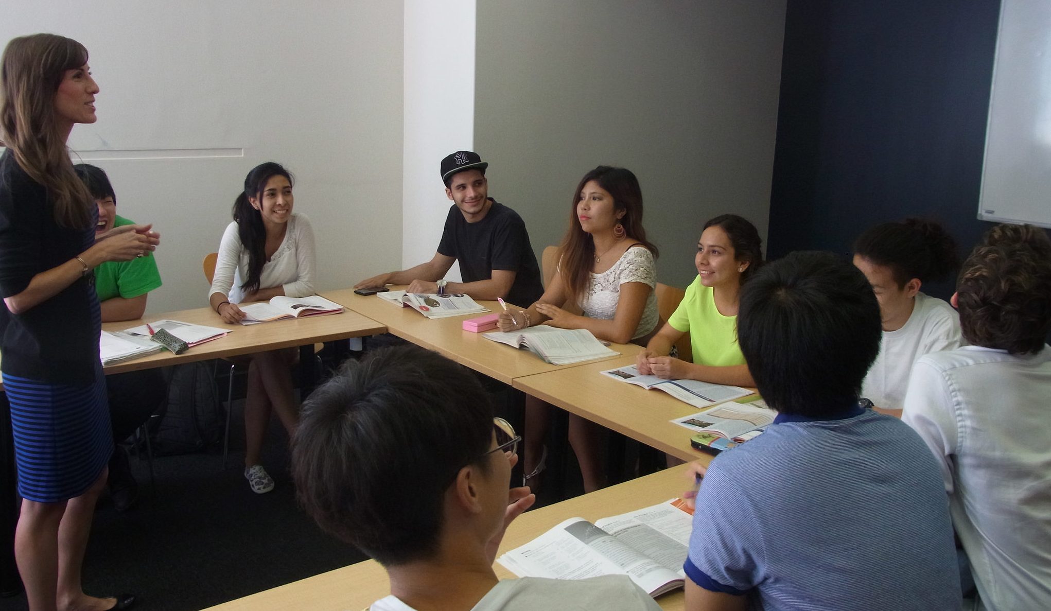
<svg viewBox="0 0 1051 611"><path fill-rule="evenodd" d="M81 163L74 168L87 185L99 206L96 235L135 223L117 216L117 194L106 172ZM161 286L161 274L152 252L131 261L103 263L95 268L95 290L99 294L102 322L133 321L146 311L149 291ZM109 415L114 431L114 454L109 460L109 493L118 510L135 503L139 486L131 474L127 454L116 445L127 439L167 399L167 385L159 369L144 369L106 376Z"/></svg>

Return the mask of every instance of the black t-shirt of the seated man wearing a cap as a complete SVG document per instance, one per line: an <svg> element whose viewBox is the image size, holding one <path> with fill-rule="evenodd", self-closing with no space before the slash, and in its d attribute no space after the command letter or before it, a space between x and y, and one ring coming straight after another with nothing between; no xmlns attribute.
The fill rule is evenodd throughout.
<svg viewBox="0 0 1051 611"><path fill-rule="evenodd" d="M456 258L463 282L489 280L494 269L514 271L515 283L504 299L529 307L543 294L543 285L526 223L518 212L490 200L492 207L477 223L468 223L455 204L449 208L438 252Z"/></svg>

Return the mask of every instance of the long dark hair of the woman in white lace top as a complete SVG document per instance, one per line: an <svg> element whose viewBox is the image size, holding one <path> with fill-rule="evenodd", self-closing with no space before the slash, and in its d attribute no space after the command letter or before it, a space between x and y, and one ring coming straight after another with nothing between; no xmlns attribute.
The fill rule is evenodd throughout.
<svg viewBox="0 0 1051 611"><path fill-rule="evenodd" d="M613 196L615 210L624 210L620 224L624 226L624 235L642 244L656 258L657 247L646 241L646 230L642 227L642 189L639 180L630 169L600 165L584 175L573 191L573 204L570 206L570 227L562 239L559 251L560 273L570 293L570 301L576 302L577 296L588 290L591 282L589 273L595 261L595 242L590 233L580 226L577 219L577 202L580 191L590 181L595 181L600 187Z"/></svg>

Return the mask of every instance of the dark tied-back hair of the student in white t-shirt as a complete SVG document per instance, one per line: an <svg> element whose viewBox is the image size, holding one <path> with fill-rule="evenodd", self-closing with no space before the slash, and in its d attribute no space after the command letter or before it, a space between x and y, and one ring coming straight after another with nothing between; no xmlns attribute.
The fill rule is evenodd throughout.
<svg viewBox="0 0 1051 611"><path fill-rule="evenodd" d="M955 240L944 227L926 219L871 227L858 237L853 251L889 267L898 288L905 288L913 278L922 283L941 280L960 267Z"/></svg>

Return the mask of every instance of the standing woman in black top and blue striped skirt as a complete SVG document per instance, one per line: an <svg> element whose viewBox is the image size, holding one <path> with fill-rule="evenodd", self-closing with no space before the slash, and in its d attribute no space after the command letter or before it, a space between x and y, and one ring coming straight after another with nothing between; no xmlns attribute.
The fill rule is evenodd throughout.
<svg viewBox="0 0 1051 611"><path fill-rule="evenodd" d="M112 453L92 270L153 250L149 225L99 238L98 209L69 161L77 123L95 123L87 49L53 34L3 52L0 127L0 352L22 508L15 557L30 611L127 609L80 582L95 502Z"/></svg>

